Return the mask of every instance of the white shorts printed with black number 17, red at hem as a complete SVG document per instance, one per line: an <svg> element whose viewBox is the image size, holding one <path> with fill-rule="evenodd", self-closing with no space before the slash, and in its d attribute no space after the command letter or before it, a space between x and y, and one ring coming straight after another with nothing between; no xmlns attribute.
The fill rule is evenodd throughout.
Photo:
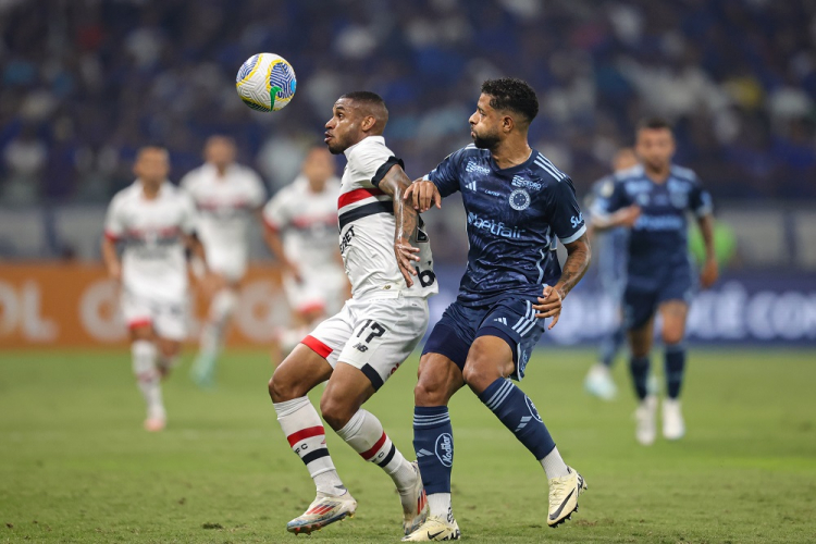
<svg viewBox="0 0 816 544"><path fill-rule="evenodd" d="M428 300L419 297L348 300L302 344L325 358L351 364L374 390L411 355L428 329Z"/></svg>

